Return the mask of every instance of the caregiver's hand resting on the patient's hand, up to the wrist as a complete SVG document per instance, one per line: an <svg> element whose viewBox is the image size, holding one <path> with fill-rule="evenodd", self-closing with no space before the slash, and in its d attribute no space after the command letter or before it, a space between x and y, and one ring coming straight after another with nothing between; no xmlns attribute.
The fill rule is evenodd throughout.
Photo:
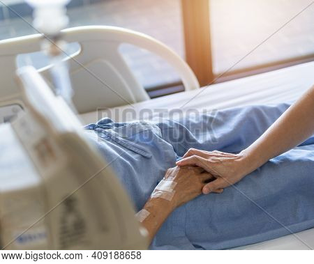
<svg viewBox="0 0 314 264"><path fill-rule="evenodd" d="M177 162L178 166L200 166L213 175L216 180L204 185L203 194L216 192L237 183L250 172L250 166L244 155L223 153L217 150L212 152L190 148L183 159Z"/></svg>

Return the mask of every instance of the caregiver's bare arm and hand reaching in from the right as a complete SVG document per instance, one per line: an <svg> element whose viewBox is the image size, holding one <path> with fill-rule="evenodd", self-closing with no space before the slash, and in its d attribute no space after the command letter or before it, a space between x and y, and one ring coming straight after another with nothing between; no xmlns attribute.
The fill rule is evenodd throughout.
<svg viewBox="0 0 314 264"><path fill-rule="evenodd" d="M293 125L291 125L293 124ZM178 166L196 165L217 179L203 187L208 194L237 183L268 160L285 153L314 133L314 86L272 124L248 148L234 155L190 149Z"/></svg>

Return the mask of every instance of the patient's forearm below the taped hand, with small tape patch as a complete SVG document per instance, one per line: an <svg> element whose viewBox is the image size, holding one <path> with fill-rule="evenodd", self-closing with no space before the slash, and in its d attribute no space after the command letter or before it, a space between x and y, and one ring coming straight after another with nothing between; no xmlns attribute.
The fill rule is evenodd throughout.
<svg viewBox="0 0 314 264"><path fill-rule="evenodd" d="M144 208L137 212L137 219L147 229L149 243L153 240L160 226L174 210L172 203L165 199L150 198Z"/></svg>

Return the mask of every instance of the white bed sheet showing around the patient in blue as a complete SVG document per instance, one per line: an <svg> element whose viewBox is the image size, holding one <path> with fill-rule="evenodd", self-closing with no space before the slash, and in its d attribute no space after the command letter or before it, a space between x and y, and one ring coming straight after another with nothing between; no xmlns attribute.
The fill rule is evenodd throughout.
<svg viewBox="0 0 314 264"><path fill-rule="evenodd" d="M160 114L162 109L163 111L170 111L171 109L182 109L182 111L188 109L211 110L249 104L293 102L313 84L314 62L310 62L214 84L195 91L168 95L132 106L126 105L107 110L99 109L82 114L80 117L84 124L94 123L105 116L109 116L114 121L132 121L142 118L143 109L148 109L147 111L152 113L151 116L156 116ZM126 116L126 112L130 116ZM314 228L237 249L314 249Z"/></svg>

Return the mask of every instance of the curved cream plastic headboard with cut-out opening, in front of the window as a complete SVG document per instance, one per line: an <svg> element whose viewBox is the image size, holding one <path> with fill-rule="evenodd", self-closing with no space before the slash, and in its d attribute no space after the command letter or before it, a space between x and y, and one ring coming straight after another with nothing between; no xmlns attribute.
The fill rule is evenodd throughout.
<svg viewBox="0 0 314 264"><path fill-rule="evenodd" d="M200 88L190 67L162 42L145 34L114 26L80 26L62 31L67 42L80 43L81 50L69 59L70 77L75 95L73 102L80 113L98 108L117 107L149 100L119 53L128 43L147 49L165 59L178 72L186 91ZM0 104L17 102L20 92L15 81L16 57L40 51L40 34L0 41ZM49 80L47 67L40 69Z"/></svg>

